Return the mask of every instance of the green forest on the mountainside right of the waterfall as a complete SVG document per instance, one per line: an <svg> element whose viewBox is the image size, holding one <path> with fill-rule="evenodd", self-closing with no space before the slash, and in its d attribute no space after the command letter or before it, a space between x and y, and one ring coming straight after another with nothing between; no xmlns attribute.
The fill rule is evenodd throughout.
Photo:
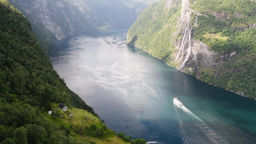
<svg viewBox="0 0 256 144"><path fill-rule="evenodd" d="M225 63L214 68L200 65L200 79L249 98L256 98L256 29L247 29L256 22L256 2L197 0L191 8L204 14L198 16L194 39L207 43L211 50L222 56L236 52L236 56L225 59ZM214 16L213 12L225 13L225 16L220 18ZM221 33L227 39L213 40L205 37L208 33Z"/></svg>

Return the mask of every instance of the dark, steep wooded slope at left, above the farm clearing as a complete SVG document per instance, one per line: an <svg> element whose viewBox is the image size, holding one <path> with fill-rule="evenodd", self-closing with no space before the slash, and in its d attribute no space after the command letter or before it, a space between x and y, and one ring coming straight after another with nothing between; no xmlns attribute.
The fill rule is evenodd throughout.
<svg viewBox="0 0 256 144"><path fill-rule="evenodd" d="M93 111L78 95L67 88L64 80L53 69L23 14L4 0L1 1L1 7L1 98L10 103L21 100L37 106L42 105L40 97L47 93L49 99L44 100L46 103L66 103ZM12 100L12 97L15 97L15 100Z"/></svg>

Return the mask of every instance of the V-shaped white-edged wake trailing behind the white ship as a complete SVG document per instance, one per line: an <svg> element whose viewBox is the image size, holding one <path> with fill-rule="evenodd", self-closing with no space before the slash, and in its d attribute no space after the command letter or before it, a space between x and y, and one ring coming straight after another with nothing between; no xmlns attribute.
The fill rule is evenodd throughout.
<svg viewBox="0 0 256 144"><path fill-rule="evenodd" d="M184 105L179 106L174 102L174 108L184 144L229 144L228 141L213 131L210 126L194 115ZM182 115L179 109L182 109L187 115Z"/></svg>

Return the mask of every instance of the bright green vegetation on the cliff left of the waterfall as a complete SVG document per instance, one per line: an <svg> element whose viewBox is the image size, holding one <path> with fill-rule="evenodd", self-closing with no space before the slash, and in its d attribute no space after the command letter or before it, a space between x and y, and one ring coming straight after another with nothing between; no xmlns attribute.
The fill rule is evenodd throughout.
<svg viewBox="0 0 256 144"><path fill-rule="evenodd" d="M181 6L167 9L165 3L166 0L154 3L138 16L128 30L127 42L167 61L175 49L170 41L175 41L171 35L177 31L175 25L181 15Z"/></svg>

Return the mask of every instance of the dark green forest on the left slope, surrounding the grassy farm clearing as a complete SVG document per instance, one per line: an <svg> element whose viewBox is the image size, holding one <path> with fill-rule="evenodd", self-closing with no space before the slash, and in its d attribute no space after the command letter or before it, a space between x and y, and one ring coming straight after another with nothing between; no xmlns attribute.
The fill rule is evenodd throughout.
<svg viewBox="0 0 256 144"><path fill-rule="evenodd" d="M66 86L29 21L6 0L0 0L0 59L0 144L95 144L97 138L80 136L115 136L93 108ZM75 109L74 115L85 111L98 122L82 127L73 126L69 119L65 125L56 109L59 103ZM51 116L50 110L55 111ZM121 138L131 141L131 137Z"/></svg>

